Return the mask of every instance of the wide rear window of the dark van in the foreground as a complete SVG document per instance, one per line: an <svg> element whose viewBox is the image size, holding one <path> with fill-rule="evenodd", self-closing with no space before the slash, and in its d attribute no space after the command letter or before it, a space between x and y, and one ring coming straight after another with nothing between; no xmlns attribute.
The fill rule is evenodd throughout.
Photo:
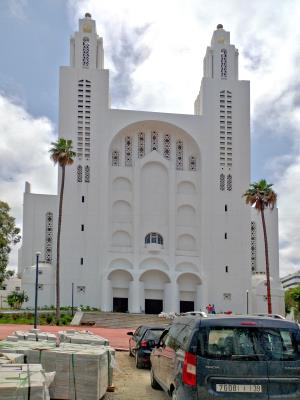
<svg viewBox="0 0 300 400"><path fill-rule="evenodd" d="M201 329L198 354L218 360L299 360L296 332L277 328Z"/></svg>

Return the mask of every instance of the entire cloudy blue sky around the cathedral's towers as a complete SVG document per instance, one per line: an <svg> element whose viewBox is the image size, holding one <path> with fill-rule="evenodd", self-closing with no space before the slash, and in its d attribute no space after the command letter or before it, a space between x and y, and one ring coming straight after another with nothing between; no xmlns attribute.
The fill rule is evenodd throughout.
<svg viewBox="0 0 300 400"><path fill-rule="evenodd" d="M231 32L251 82L251 180L278 193L280 274L300 269L298 0L0 0L0 199L18 226L25 181L56 193L58 71L85 12L104 40L113 108L192 114L212 33Z"/></svg>

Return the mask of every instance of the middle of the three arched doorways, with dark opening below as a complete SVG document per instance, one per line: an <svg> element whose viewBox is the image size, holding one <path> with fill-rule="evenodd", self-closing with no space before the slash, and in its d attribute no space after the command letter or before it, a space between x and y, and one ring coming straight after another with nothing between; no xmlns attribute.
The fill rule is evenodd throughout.
<svg viewBox="0 0 300 400"><path fill-rule="evenodd" d="M170 283L168 275L150 270L141 275L140 281L144 284L145 314L159 314L164 309L165 284Z"/></svg>

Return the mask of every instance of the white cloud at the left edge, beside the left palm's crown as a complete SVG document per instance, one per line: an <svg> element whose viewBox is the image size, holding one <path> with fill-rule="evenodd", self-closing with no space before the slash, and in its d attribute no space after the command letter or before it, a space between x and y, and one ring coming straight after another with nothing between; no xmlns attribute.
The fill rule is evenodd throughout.
<svg viewBox="0 0 300 400"><path fill-rule="evenodd" d="M19 226L25 181L37 193L56 190L56 168L48 154L53 140L54 127L47 118L33 118L16 100L0 94L0 199L10 205ZM10 265L16 264L14 250Z"/></svg>

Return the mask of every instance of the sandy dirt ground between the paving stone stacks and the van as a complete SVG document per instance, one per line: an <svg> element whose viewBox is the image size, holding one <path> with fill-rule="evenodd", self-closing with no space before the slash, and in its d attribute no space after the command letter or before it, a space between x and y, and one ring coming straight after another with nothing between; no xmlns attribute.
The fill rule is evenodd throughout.
<svg viewBox="0 0 300 400"><path fill-rule="evenodd" d="M128 352L116 352L117 367L114 369L113 393L106 393L103 400L169 400L160 390L150 386L150 370L137 369Z"/></svg>

